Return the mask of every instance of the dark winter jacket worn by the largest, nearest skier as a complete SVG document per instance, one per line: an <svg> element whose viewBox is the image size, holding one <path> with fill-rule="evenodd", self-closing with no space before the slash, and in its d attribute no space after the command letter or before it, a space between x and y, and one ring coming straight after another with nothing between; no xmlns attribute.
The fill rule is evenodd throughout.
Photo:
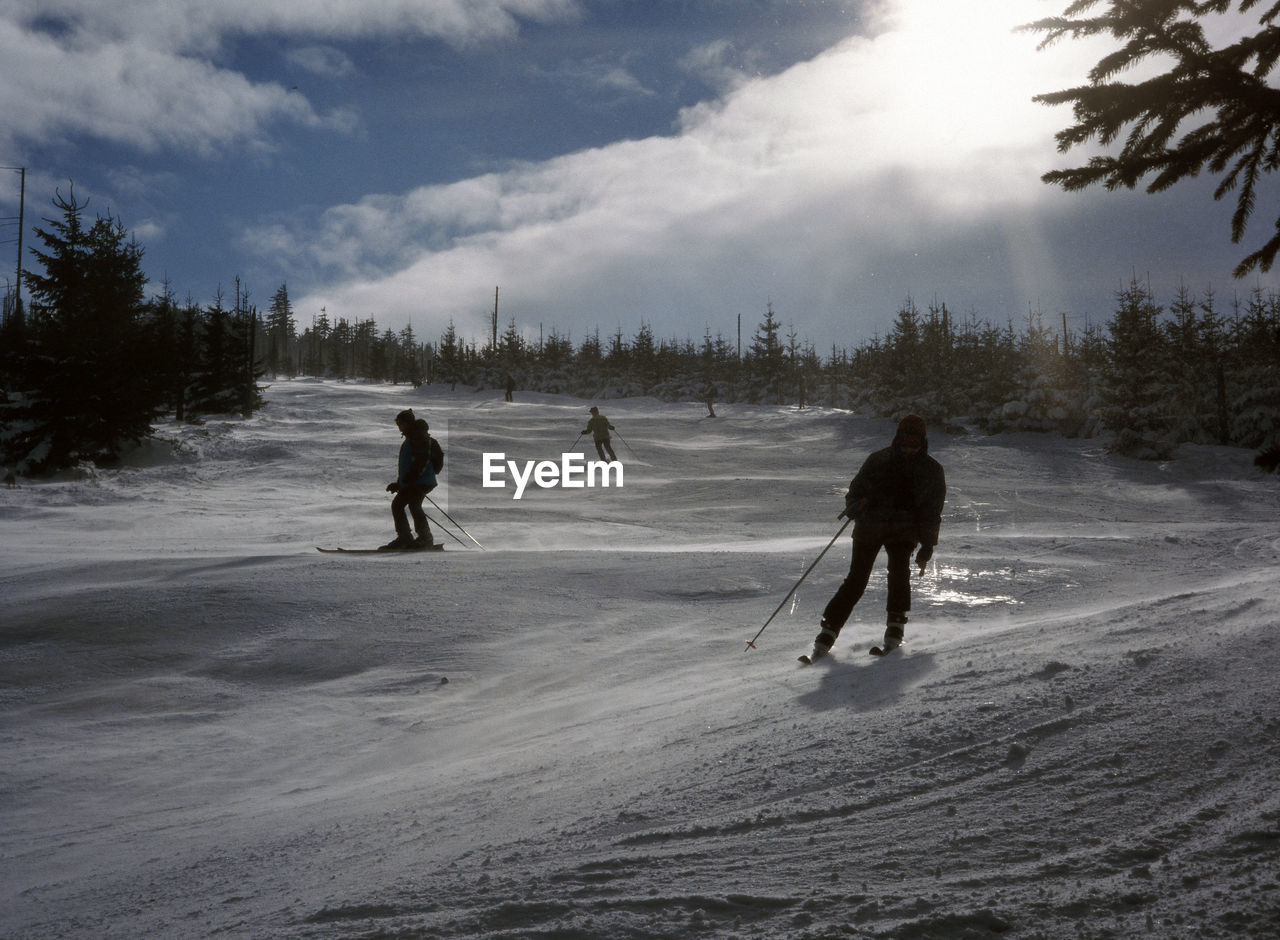
<svg viewBox="0 0 1280 940"><path fill-rule="evenodd" d="M947 498L946 475L929 456L925 438L913 456L899 450L901 438L899 432L892 444L869 456L849 484L845 507L854 519L854 538L936 546Z"/></svg>

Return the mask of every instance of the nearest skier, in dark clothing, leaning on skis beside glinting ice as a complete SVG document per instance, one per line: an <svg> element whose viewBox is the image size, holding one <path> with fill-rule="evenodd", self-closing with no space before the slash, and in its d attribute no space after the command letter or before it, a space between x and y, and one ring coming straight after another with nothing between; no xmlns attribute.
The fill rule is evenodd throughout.
<svg viewBox="0 0 1280 940"><path fill-rule="evenodd" d="M822 612L822 629L813 642L812 658L831 652L854 604L867 590L881 548L888 556L883 651L902 643L906 612L911 610L911 552L924 574L938 543L942 503L947 496L942 465L928 450L924 419L908 415L899 423L893 443L869 456L849 484L845 515L854 520L852 560L849 576Z"/></svg>

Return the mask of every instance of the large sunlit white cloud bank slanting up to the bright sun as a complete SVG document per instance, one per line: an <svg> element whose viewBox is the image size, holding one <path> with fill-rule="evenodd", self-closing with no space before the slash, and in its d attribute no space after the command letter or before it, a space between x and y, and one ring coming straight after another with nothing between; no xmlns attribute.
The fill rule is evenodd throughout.
<svg viewBox="0 0 1280 940"><path fill-rule="evenodd" d="M298 245L335 265L334 286L300 306L417 316L430 333L499 283L529 316L556 321L595 296L625 318L692 316L700 334L698 316L780 292L829 316L868 284L931 289L938 251L970 279L997 264L1052 279L1051 259L1027 257L1039 241L1027 229L1061 199L1039 174L1062 115L1030 97L1078 81L1096 50L1038 54L1012 32L1043 15L1036 3L950 6L897 4L873 38L744 82L671 137L335 207ZM943 232L961 241L942 247Z"/></svg>

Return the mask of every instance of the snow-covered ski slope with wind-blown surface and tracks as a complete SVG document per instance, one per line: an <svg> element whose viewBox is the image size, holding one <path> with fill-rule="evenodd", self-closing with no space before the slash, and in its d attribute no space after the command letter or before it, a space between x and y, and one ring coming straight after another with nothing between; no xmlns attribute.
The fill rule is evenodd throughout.
<svg viewBox="0 0 1280 940"><path fill-rule="evenodd" d="M113 471L0 489L0 935L1275 936L1280 487L1051 435L931 435L906 645L842 493L888 421L280 382ZM392 535L413 407L439 506ZM593 452L588 453L594 457ZM440 512L428 506L439 520Z"/></svg>

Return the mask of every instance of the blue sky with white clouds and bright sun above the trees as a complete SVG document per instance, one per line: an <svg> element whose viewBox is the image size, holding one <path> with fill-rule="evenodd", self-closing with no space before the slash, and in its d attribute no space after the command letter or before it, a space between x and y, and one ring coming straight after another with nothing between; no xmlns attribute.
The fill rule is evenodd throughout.
<svg viewBox="0 0 1280 940"><path fill-rule="evenodd" d="M74 187L157 292L298 327L372 318L744 342L767 309L819 351L908 298L1015 325L1107 319L1231 279L1212 181L1041 182L1105 46L1016 31L1065 0L0 0L0 165L31 229ZM0 271L19 174L0 170Z"/></svg>

